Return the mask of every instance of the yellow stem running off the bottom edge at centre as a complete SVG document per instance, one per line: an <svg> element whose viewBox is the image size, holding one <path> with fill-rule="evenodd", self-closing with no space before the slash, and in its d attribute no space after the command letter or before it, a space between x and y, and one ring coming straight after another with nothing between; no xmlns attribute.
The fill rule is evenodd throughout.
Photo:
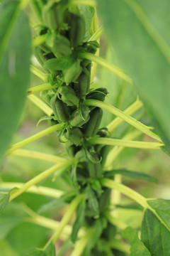
<svg viewBox="0 0 170 256"><path fill-rule="evenodd" d="M78 240L75 244L74 250L70 256L81 256L87 243L91 240L94 235L94 228L91 228L86 235L84 235L80 240Z"/></svg>

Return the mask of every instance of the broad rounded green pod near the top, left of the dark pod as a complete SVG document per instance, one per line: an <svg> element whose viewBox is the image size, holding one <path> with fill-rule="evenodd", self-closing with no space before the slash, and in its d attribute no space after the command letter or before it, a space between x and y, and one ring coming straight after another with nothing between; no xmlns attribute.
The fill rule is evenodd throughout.
<svg viewBox="0 0 170 256"><path fill-rule="evenodd" d="M54 46L52 47L52 53L54 53L57 58L72 54L69 39L65 36L57 35L54 40Z"/></svg>

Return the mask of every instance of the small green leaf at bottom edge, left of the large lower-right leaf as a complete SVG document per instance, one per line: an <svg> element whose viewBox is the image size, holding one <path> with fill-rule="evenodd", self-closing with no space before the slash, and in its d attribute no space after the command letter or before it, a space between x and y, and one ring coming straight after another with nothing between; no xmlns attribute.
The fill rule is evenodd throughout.
<svg viewBox="0 0 170 256"><path fill-rule="evenodd" d="M130 227L125 228L122 232L122 236L130 240L130 256L150 256L149 251L138 238L137 230Z"/></svg>

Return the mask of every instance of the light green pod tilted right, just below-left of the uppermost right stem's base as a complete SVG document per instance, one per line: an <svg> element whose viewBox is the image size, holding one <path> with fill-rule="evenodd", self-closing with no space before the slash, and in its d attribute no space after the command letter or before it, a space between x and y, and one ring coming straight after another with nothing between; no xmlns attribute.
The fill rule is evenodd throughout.
<svg viewBox="0 0 170 256"><path fill-rule="evenodd" d="M75 82L79 75L81 74L82 68L80 65L79 60L75 61L73 65L67 69L64 73L64 81L67 85L69 85L70 82Z"/></svg>

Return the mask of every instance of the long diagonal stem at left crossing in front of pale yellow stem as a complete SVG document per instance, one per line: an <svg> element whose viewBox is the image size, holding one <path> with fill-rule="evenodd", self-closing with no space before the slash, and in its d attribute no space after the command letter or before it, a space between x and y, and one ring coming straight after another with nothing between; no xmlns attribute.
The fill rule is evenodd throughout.
<svg viewBox="0 0 170 256"><path fill-rule="evenodd" d="M35 185L36 183L42 181L44 178L47 178L48 176L50 176L51 174L54 174L56 171L56 175L60 176L64 169L66 167L71 166L74 163L74 161L65 161L64 163L61 164L55 164L55 166L50 167L49 169L42 171L41 174L38 174L37 176L35 176L34 178L30 179L30 181L26 182L21 188L19 188L17 191L14 191L13 193L11 193L11 196L9 198L9 201L12 201L14 198L16 198L17 196L20 196L22 193L24 193L25 191L28 190L28 188L30 188L31 186Z"/></svg>

